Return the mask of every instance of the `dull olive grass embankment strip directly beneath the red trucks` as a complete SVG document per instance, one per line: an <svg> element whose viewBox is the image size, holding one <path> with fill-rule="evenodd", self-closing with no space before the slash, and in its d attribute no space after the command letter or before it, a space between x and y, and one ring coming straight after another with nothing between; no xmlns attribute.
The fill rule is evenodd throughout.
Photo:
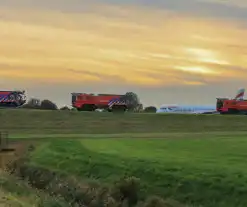
<svg viewBox="0 0 247 207"><path fill-rule="evenodd" d="M38 134L247 132L247 116L1 110L0 131Z"/></svg>

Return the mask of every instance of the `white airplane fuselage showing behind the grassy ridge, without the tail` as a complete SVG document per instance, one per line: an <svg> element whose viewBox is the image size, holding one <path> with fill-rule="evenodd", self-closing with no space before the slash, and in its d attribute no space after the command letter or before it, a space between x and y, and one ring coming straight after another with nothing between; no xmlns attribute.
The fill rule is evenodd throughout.
<svg viewBox="0 0 247 207"><path fill-rule="evenodd" d="M156 113L182 113L182 114L203 114L215 113L216 106L195 106L195 105L166 105L161 106Z"/></svg>

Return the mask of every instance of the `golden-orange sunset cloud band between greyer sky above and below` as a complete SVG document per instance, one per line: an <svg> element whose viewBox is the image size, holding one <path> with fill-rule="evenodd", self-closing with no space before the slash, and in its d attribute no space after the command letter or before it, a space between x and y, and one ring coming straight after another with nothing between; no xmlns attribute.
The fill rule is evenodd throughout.
<svg viewBox="0 0 247 207"><path fill-rule="evenodd" d="M0 14L5 78L160 86L243 79L247 72L247 31L236 22L110 5Z"/></svg>

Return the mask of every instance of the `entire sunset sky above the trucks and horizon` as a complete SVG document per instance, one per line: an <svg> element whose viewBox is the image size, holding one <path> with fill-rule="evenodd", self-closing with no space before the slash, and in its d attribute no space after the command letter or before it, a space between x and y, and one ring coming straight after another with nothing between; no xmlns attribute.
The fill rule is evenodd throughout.
<svg viewBox="0 0 247 207"><path fill-rule="evenodd" d="M0 89L210 104L247 85L246 0L1 0Z"/></svg>

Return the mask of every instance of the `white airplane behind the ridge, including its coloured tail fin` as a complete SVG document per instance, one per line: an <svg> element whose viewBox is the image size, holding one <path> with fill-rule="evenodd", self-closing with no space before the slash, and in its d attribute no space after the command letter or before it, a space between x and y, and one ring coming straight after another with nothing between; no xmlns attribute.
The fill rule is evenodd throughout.
<svg viewBox="0 0 247 207"><path fill-rule="evenodd" d="M238 90L235 100L243 100L245 89ZM182 113L182 114L218 114L216 105L196 106L196 105L177 105L167 104L162 105L156 113Z"/></svg>

